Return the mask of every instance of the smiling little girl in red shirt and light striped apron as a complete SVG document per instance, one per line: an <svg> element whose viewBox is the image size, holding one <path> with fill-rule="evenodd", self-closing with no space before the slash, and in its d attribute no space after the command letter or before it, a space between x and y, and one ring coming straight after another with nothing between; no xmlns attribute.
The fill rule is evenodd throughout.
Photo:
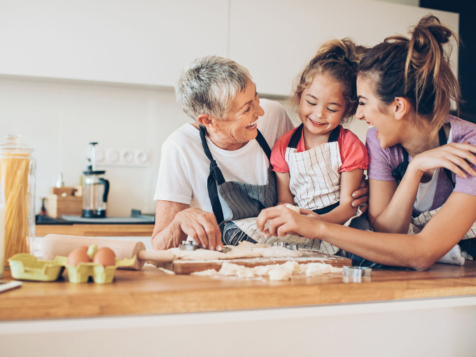
<svg viewBox="0 0 476 357"><path fill-rule="evenodd" d="M314 211L330 223L344 224L356 215L351 193L368 165L365 146L341 126L356 113L362 52L348 38L319 48L298 77L293 96L302 124L284 134L271 153L278 204ZM302 244L325 253L338 250L321 241Z"/></svg>

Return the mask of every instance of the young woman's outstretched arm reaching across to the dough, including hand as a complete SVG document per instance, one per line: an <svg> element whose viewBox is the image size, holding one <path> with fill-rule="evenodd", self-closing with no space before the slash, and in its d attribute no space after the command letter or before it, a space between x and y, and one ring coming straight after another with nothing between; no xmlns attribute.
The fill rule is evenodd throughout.
<svg viewBox="0 0 476 357"><path fill-rule="evenodd" d="M316 221L285 207L263 210L257 223L265 237L293 234L323 239L372 262L424 270L455 246L475 221L476 196L452 193L418 235L356 230Z"/></svg>

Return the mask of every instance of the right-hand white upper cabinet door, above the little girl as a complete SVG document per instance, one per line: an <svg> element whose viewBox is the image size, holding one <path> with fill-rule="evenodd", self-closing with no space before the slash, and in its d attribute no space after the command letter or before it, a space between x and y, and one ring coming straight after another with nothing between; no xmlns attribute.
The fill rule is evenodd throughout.
<svg viewBox="0 0 476 357"><path fill-rule="evenodd" d="M320 43L351 37L372 46L407 34L433 13L458 32L458 14L365 0L230 0L230 58L248 68L258 92L288 95ZM452 61L457 66L457 51Z"/></svg>

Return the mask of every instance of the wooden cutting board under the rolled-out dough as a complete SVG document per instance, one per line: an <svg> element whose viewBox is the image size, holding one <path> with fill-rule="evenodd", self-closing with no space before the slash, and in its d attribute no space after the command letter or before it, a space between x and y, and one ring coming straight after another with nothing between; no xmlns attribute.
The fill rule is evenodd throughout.
<svg viewBox="0 0 476 357"><path fill-rule="evenodd" d="M303 252L304 256L300 258L240 258L225 260L174 260L173 262L163 265L165 269L172 270L175 274L190 274L193 272L202 272L207 269L220 270L224 262L232 262L246 267L256 267L258 265L284 264L288 260L298 262L299 264L307 264L309 262L325 262L333 267L343 267L344 265L352 265L352 260L342 258L335 255L323 253Z"/></svg>

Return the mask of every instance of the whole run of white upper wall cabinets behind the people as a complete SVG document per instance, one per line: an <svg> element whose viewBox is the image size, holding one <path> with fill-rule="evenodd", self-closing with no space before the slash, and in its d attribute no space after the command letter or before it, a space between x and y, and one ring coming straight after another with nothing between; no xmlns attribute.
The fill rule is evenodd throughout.
<svg viewBox="0 0 476 357"><path fill-rule="evenodd" d="M458 31L458 14L381 1L2 0L0 74L169 87L215 54L246 66L258 92L287 95L323 41L375 45L430 12Z"/></svg>

